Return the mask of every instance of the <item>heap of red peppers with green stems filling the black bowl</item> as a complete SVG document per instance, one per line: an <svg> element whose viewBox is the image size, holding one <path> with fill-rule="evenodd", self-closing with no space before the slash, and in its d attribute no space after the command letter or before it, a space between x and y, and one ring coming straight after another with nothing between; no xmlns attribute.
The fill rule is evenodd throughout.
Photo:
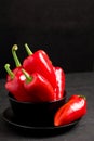
<svg viewBox="0 0 94 141"><path fill-rule="evenodd" d="M42 102L62 99L65 92L63 68L54 66L44 50L31 52L27 43L25 43L25 50L27 57L21 64L17 56L18 46L12 47L15 67L11 69L9 63L4 66L8 73L5 89L18 101ZM32 79L29 80L30 78Z"/></svg>

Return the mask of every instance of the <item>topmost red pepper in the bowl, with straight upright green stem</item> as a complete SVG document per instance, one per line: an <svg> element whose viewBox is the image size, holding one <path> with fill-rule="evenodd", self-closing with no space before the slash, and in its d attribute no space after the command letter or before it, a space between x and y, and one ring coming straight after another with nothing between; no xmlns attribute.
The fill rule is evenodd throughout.
<svg viewBox="0 0 94 141"><path fill-rule="evenodd" d="M48 54L43 50L38 50L32 54L28 46L25 44L25 47L29 54L29 56L26 57L23 62L23 67L25 70L27 70L29 74L35 72L39 73L51 82L55 90L56 77L52 62L50 61Z"/></svg>

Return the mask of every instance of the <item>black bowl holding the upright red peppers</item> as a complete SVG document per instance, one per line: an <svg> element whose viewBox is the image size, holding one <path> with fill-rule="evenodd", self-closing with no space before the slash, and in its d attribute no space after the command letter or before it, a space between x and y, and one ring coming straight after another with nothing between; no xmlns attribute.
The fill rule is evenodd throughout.
<svg viewBox="0 0 94 141"><path fill-rule="evenodd" d="M66 102L66 92L61 100L51 102L19 102L9 93L9 101L15 117L31 126L53 126L55 112Z"/></svg>

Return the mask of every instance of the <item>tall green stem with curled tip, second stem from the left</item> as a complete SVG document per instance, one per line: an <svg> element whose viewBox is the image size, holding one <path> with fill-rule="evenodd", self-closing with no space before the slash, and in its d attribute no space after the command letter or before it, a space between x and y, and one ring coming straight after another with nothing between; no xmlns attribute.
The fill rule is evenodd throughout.
<svg viewBox="0 0 94 141"><path fill-rule="evenodd" d="M12 55L13 55L13 59L14 59L14 61L15 61L16 67L19 67L22 64L21 64L21 62L19 62L19 60L18 60L18 57L17 57L17 55L16 55L16 50L17 50L17 49L18 49L17 44L14 44L14 46L12 47Z"/></svg>

